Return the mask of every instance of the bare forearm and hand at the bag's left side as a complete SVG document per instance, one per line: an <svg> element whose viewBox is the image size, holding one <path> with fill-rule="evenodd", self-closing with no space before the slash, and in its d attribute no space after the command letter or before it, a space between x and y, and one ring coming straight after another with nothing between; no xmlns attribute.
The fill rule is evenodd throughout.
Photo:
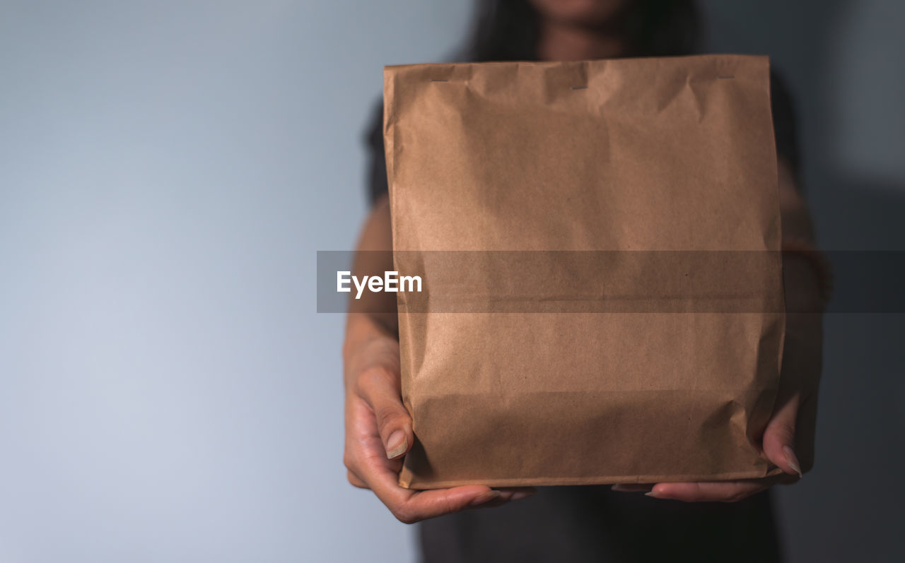
<svg viewBox="0 0 905 563"><path fill-rule="evenodd" d="M353 270L393 269L390 206L386 196L374 204L358 241ZM343 345L346 384L348 481L374 491L393 515L406 523L524 498L532 488L493 490L483 485L412 491L399 486L402 458L414 443L412 418L402 402L398 317L395 295L366 293L349 302Z"/></svg>

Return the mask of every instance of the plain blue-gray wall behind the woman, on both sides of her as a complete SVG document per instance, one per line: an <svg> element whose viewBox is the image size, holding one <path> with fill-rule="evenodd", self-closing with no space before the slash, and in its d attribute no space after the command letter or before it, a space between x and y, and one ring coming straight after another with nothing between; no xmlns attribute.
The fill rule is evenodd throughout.
<svg viewBox="0 0 905 563"><path fill-rule="evenodd" d="M903 249L903 5L704 6L793 89L824 247ZM346 482L315 250L364 217L382 65L449 59L471 8L0 1L0 562L414 560ZM827 319L793 561L903 554L902 329Z"/></svg>

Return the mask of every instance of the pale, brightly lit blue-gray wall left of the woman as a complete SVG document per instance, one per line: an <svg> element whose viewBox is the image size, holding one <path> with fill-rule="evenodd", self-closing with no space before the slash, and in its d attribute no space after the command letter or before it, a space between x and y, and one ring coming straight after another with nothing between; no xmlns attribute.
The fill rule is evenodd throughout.
<svg viewBox="0 0 905 563"><path fill-rule="evenodd" d="M0 0L0 562L411 560L342 466L316 249L468 6Z"/></svg>

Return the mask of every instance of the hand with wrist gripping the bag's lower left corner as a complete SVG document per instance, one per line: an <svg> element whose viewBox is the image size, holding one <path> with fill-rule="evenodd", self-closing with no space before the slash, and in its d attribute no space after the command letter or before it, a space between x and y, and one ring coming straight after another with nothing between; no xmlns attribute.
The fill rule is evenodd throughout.
<svg viewBox="0 0 905 563"><path fill-rule="evenodd" d="M343 350L348 481L370 489L405 523L529 496L531 488L466 485L413 491L399 486L402 458L412 447L412 418L402 402L399 342L367 314L350 314Z"/></svg>

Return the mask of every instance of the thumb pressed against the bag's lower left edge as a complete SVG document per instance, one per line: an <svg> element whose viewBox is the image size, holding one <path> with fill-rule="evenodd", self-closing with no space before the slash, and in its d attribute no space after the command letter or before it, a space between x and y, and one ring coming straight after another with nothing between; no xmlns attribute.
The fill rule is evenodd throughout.
<svg viewBox="0 0 905 563"><path fill-rule="evenodd" d="M412 418L402 404L398 374L380 368L365 371L358 378L358 393L374 411L386 457L405 455L412 447L414 433Z"/></svg>

